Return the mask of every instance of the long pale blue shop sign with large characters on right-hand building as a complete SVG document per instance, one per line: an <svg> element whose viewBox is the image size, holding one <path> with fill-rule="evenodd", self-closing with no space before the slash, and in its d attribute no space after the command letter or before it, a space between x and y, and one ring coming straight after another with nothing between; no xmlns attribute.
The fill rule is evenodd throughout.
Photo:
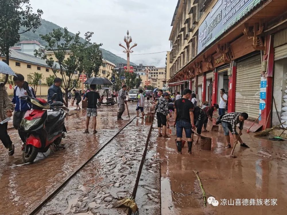
<svg viewBox="0 0 287 215"><path fill-rule="evenodd" d="M218 0L198 30L198 53L264 0Z"/></svg>

